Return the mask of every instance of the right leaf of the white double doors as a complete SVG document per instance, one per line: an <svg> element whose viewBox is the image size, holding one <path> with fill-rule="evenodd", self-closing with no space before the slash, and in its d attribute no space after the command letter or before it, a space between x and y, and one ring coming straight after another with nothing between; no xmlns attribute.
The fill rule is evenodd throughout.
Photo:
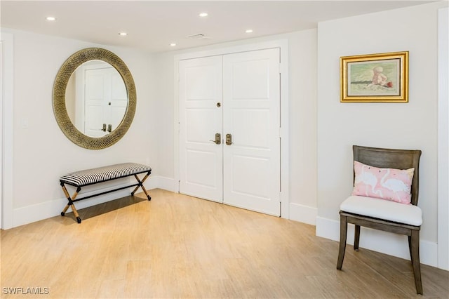
<svg viewBox="0 0 449 299"><path fill-rule="evenodd" d="M224 203L280 215L279 49L223 58Z"/></svg>

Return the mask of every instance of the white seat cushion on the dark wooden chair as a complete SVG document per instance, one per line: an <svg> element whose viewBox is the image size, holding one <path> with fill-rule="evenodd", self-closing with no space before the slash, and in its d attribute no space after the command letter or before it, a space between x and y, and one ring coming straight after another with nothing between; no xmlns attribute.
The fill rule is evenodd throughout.
<svg viewBox="0 0 449 299"><path fill-rule="evenodd" d="M421 208L412 204L399 204L373 197L351 196L340 204L340 210L408 225L422 225Z"/></svg>

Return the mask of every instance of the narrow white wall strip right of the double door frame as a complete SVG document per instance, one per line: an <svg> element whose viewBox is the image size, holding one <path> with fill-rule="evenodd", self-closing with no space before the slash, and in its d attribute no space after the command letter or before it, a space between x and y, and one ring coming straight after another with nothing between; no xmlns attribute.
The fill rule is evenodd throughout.
<svg viewBox="0 0 449 299"><path fill-rule="evenodd" d="M290 219L315 225L318 213L316 29L289 36Z"/></svg>

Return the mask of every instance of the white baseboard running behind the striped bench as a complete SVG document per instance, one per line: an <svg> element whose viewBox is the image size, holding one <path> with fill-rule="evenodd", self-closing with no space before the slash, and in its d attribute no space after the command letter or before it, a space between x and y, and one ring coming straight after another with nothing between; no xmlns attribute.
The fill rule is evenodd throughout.
<svg viewBox="0 0 449 299"><path fill-rule="evenodd" d="M122 181L123 182L123 181ZM107 188L96 189L95 191L88 191L79 196L85 197L94 193L105 192L107 190L112 190L115 188L125 187L128 184L121 183L120 185L109 185ZM164 178L159 176L151 176L145 181L145 188L147 190L152 190L155 188L161 188L168 191L174 190L173 179ZM94 187L93 185L92 187ZM90 188L92 189L92 188ZM126 188L123 190L119 190L116 192L111 192L108 194L99 195L98 197L93 197L91 199L86 199L85 201L77 201L76 209L79 210L81 208L87 208L89 206L95 206L97 204L102 204L107 201L111 201L114 199L119 199L121 197L126 197L133 191L133 188ZM141 192L142 190L138 190ZM62 193L62 192L61 192ZM151 196L151 192L149 192ZM25 206L22 208L14 208L13 209L13 227L18 227L20 225L26 225L31 222L36 222L39 220L55 217L60 215L62 209L67 205L67 199L62 197L60 199L53 199L51 201L45 201L41 204L34 204L32 206ZM69 208L67 213L72 212L72 209Z"/></svg>

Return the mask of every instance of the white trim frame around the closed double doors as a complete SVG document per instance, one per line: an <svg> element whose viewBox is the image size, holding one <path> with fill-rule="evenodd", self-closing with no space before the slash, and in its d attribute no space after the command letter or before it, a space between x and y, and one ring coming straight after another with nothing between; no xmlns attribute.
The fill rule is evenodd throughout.
<svg viewBox="0 0 449 299"><path fill-rule="evenodd" d="M179 192L180 168L179 168L179 61L191 58L201 58L214 55L225 55L246 51L263 50L267 48L280 48L281 51L281 218L289 218L289 131L288 131L288 40L267 41L260 44L246 44L241 46L233 46L227 48L218 48L205 51L194 51L191 53L183 53L174 57L174 75L175 75L175 91L174 91L174 173L175 173L175 192Z"/></svg>

